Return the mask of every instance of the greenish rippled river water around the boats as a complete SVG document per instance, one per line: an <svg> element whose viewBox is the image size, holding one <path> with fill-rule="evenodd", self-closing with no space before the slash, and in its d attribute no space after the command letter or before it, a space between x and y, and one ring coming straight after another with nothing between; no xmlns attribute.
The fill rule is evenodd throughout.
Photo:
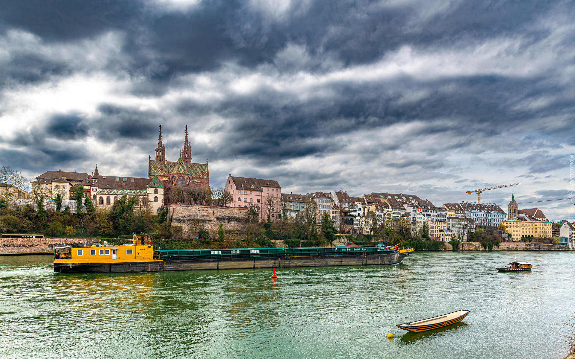
<svg viewBox="0 0 575 359"><path fill-rule="evenodd" d="M494 267L530 261L532 272ZM60 274L0 257L0 358L562 358L573 252L416 252L400 265ZM396 324L471 310L425 333Z"/></svg>

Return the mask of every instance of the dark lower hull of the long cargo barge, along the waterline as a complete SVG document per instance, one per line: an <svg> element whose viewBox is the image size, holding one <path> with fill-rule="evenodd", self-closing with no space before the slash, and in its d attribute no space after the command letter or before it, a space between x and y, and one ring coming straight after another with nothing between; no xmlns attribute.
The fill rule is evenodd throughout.
<svg viewBox="0 0 575 359"><path fill-rule="evenodd" d="M54 271L60 273L138 273L167 271L198 271L205 269L249 269L328 267L342 265L398 264L409 253L363 254L347 256L289 256L203 260L168 260L139 263L69 265L55 263Z"/></svg>

